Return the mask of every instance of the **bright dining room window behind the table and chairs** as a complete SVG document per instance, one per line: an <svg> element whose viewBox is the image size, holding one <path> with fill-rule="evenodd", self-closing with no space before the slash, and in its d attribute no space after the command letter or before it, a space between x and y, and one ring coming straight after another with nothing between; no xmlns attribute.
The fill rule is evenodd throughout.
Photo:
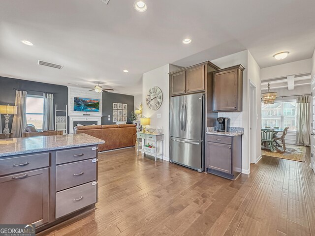
<svg viewBox="0 0 315 236"><path fill-rule="evenodd" d="M296 131L296 100L261 104L261 127L265 126L289 127L289 131Z"/></svg>

